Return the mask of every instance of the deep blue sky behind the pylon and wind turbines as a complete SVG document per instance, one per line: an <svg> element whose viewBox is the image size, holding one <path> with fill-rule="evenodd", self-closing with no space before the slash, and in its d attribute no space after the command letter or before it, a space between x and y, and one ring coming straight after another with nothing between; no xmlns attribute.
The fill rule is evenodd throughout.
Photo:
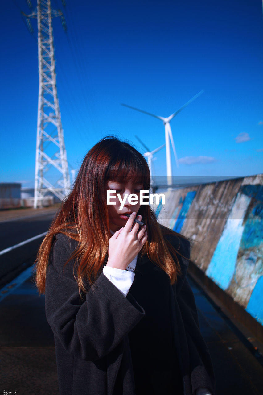
<svg viewBox="0 0 263 395"><path fill-rule="evenodd" d="M33 6L36 0L32 0ZM109 134L155 149L162 121L120 105L168 117L180 167L173 174L263 173L263 16L261 0L66 2L68 32L53 19L58 98L68 161ZM20 10L2 6L0 182L34 185L38 49ZM165 149L156 175L166 174Z"/></svg>

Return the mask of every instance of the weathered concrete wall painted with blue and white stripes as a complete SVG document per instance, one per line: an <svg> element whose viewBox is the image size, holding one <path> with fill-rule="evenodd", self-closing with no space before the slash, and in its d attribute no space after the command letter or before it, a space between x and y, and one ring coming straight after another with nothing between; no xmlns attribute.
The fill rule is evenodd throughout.
<svg viewBox="0 0 263 395"><path fill-rule="evenodd" d="M193 263L263 325L262 174L167 191L158 221L193 239Z"/></svg>

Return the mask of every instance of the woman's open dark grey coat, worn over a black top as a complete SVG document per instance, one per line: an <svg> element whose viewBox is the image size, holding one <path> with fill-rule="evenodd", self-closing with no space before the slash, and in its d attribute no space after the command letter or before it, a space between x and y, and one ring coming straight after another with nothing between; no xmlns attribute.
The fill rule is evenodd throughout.
<svg viewBox="0 0 263 395"><path fill-rule="evenodd" d="M170 292L184 395L194 394L198 387L208 387L214 394L210 355L186 278L190 243L177 236L169 236L169 241L185 257L178 254L182 275ZM103 273L82 299L74 261L65 265L76 247L72 239L56 235L46 277L46 316L54 333L60 395L119 395L114 390L117 376L123 395L134 395L128 333L145 312L130 293L124 297Z"/></svg>

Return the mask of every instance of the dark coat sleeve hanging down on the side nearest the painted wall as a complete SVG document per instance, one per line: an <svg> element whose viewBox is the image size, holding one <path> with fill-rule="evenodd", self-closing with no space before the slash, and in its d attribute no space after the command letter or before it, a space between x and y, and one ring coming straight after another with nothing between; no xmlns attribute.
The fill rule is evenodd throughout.
<svg viewBox="0 0 263 395"><path fill-rule="evenodd" d="M192 393L199 387L207 387L214 394L214 371L207 344L203 339L195 304L195 298L186 277L190 258L190 243L182 239L180 256L178 256L182 277L176 286L176 298L180 310L180 318L184 326L184 338L187 342L189 354L189 373ZM189 383L190 384L190 383Z"/></svg>

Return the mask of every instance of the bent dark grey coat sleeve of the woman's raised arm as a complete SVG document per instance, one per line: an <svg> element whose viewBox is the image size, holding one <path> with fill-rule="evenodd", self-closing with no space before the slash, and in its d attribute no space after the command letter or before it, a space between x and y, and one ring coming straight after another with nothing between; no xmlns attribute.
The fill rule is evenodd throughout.
<svg viewBox="0 0 263 395"><path fill-rule="evenodd" d="M103 273L84 294L74 277L70 240L57 235L46 276L46 316L64 348L80 359L94 361L109 354L145 312L135 299L128 299ZM71 250L71 251L70 251Z"/></svg>

